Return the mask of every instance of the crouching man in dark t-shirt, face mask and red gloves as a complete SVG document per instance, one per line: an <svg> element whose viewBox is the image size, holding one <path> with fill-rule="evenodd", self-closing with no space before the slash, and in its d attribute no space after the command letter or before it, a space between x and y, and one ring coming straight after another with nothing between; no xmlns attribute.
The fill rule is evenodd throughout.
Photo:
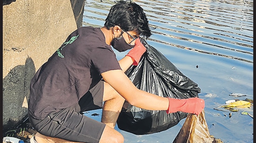
<svg viewBox="0 0 256 143"><path fill-rule="evenodd" d="M124 74L146 51L139 38L150 36L141 6L126 1L111 7L103 27L71 33L31 81L28 115L38 131L31 142L123 143L114 127L125 100L147 110L202 112L202 99L147 93ZM119 52L131 50L117 61L110 45ZM101 122L81 114L100 108Z"/></svg>

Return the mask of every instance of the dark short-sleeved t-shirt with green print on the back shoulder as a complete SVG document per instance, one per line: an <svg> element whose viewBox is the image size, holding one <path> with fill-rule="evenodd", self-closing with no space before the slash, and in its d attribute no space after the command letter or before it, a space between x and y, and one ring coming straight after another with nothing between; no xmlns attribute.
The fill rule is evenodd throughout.
<svg viewBox="0 0 256 143"><path fill-rule="evenodd" d="M100 28L81 27L35 73L28 112L43 119L74 105L101 80L101 73L121 69Z"/></svg>

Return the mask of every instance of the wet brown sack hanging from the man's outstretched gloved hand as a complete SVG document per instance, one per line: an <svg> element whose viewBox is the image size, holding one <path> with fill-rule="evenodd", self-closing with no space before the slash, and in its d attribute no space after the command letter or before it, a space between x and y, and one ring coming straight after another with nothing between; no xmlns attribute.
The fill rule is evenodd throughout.
<svg viewBox="0 0 256 143"><path fill-rule="evenodd" d="M204 110L199 114L189 113L173 143L217 143L210 137Z"/></svg>

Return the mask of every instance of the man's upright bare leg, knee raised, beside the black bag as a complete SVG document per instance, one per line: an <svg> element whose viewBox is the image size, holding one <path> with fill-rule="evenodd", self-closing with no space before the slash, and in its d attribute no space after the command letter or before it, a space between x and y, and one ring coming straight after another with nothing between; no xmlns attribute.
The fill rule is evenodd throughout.
<svg viewBox="0 0 256 143"><path fill-rule="evenodd" d="M104 82L103 101L105 101L105 103L103 106L101 122L114 129L125 99L108 83Z"/></svg>

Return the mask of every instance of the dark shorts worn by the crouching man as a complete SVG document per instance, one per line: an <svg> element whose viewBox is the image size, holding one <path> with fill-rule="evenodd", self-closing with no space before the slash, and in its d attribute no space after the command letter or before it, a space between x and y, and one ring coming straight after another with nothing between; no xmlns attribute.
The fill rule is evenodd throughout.
<svg viewBox="0 0 256 143"><path fill-rule="evenodd" d="M29 121L36 131L45 136L73 142L99 143L106 124L89 118L82 112L102 108L103 89L104 83L100 81L79 100L78 104L51 112L43 120L29 116Z"/></svg>

